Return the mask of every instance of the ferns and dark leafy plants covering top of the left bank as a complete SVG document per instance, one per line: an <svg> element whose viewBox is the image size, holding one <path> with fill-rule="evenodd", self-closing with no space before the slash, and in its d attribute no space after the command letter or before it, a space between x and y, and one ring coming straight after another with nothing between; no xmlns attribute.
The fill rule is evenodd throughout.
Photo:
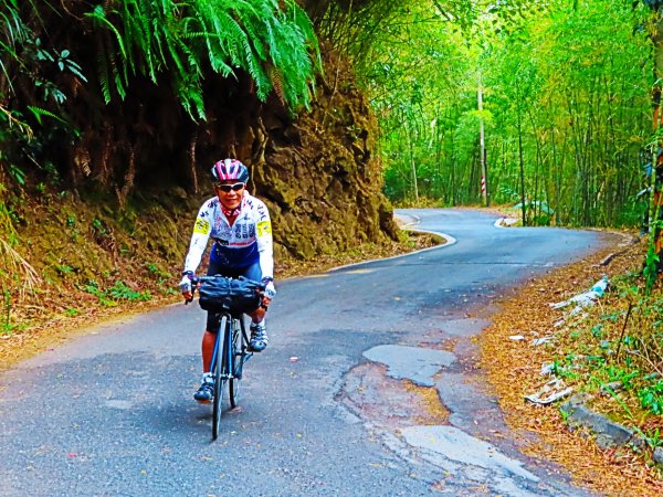
<svg viewBox="0 0 663 497"><path fill-rule="evenodd" d="M295 112L311 105L322 68L311 21L294 0L0 0L0 168L20 188L31 178L43 188L57 179L53 163L72 168L74 182L92 177L95 150L77 140L76 126L94 129L83 131L90 140L103 120L102 102L126 98L137 81L170 91L190 116L204 118L203 83L209 91L213 72L246 74L259 98L275 92ZM123 154L127 144L117 140ZM113 154L101 154L104 172L95 179L126 177L114 170Z"/></svg>

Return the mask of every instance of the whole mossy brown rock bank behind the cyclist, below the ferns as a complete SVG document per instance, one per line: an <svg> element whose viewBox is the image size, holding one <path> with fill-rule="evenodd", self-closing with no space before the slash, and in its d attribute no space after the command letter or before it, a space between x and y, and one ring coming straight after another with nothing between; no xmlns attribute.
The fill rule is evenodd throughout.
<svg viewBox="0 0 663 497"><path fill-rule="evenodd" d="M120 281L172 292L198 209L213 195L210 167L223 157L249 166L249 191L270 208L277 268L281 257L311 260L398 240L368 102L348 67L326 63L325 71L338 81L319 81L317 101L296 118L276 97L257 102L248 78L232 83L218 75L210 75L214 93L206 123L191 123L164 93L147 92L140 106L127 104L119 113L117 106L99 110L107 112L103 126L83 127L69 159L61 154L63 161L85 158L87 176L71 166L69 187L32 198L25 189L9 202L17 254L43 287L62 292L61 299L76 292L85 299L82 288L91 281L101 289ZM138 118L145 126L134 126ZM158 139L149 130L158 130ZM126 170L127 151L135 154L135 178ZM123 193L126 184L134 186L129 193ZM0 192L0 201L8 195ZM6 288L14 284L8 271L0 279Z"/></svg>

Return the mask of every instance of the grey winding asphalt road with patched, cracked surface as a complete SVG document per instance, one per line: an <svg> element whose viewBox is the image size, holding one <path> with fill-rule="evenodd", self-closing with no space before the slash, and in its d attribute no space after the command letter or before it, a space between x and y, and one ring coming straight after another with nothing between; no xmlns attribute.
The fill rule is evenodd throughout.
<svg viewBox="0 0 663 497"><path fill-rule="evenodd" d="M455 240L281 282L270 347L215 443L211 410L191 398L197 306L91 329L0 376L0 495L586 495L519 452L471 338L496 296L599 234L399 214Z"/></svg>

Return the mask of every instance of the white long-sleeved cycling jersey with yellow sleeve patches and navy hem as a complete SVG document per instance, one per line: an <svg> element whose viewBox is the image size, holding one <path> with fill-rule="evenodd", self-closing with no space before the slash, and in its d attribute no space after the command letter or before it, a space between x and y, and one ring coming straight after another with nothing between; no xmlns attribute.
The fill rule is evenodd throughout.
<svg viewBox="0 0 663 497"><path fill-rule="evenodd" d="M262 200L245 191L232 226L219 198L207 200L196 218L185 271L196 273L210 237L214 241L211 262L230 268L248 267L260 262L263 278L274 277L272 222Z"/></svg>

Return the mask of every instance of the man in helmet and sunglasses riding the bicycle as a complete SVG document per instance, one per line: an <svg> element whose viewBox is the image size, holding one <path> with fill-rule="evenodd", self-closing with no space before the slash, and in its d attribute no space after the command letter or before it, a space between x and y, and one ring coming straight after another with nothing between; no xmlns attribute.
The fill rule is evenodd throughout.
<svg viewBox="0 0 663 497"><path fill-rule="evenodd" d="M266 307L276 295L270 213L261 200L246 191L249 169L239 160L220 160L212 167L211 175L217 195L208 199L198 212L179 288L185 299L190 300L191 277L211 237L208 275L245 276L266 284L262 305L248 313L252 321L250 346L260 352L267 346ZM213 396L214 380L210 368L219 326L219 315L208 311L201 347L202 381L193 395L203 403L210 402Z"/></svg>

